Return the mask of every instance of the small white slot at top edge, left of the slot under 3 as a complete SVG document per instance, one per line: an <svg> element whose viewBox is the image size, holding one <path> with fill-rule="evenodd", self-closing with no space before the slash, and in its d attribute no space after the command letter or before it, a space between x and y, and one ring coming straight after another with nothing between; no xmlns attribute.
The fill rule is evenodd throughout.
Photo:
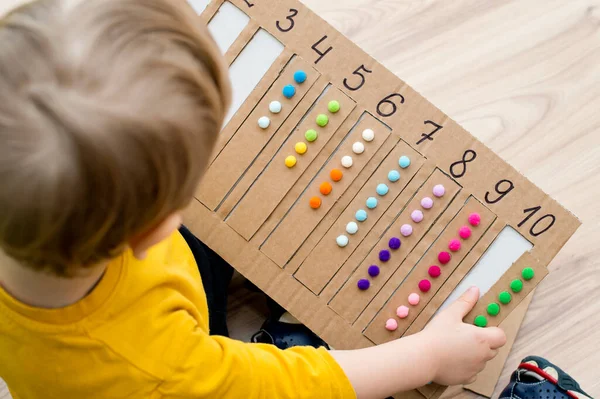
<svg viewBox="0 0 600 399"><path fill-rule="evenodd" d="M248 25L248 22L250 22L250 17L226 1L208 23L208 30L217 42L221 52L225 54Z"/></svg>

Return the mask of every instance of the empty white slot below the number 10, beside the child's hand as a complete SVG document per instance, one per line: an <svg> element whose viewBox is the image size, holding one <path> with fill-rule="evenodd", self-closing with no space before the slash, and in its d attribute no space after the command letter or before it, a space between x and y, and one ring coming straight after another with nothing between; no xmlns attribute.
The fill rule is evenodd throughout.
<svg viewBox="0 0 600 399"><path fill-rule="evenodd" d="M458 287L452 291L438 313L456 301L472 286L479 287L480 297L486 294L513 263L532 248L533 245L521 234L512 227L506 226Z"/></svg>

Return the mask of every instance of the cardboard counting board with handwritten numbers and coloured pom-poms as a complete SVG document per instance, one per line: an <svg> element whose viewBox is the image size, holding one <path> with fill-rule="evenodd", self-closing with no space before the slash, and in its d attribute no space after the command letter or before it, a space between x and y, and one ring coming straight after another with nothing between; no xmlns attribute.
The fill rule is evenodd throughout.
<svg viewBox="0 0 600 399"><path fill-rule="evenodd" d="M499 325L580 225L299 1L190 3L234 93L186 224L336 349L414 334L470 285L465 322Z"/></svg>

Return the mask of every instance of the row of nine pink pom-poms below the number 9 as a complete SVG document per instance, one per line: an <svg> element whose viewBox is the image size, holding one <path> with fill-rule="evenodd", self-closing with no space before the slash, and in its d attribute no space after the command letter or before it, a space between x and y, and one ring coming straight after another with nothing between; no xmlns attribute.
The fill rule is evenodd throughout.
<svg viewBox="0 0 600 399"><path fill-rule="evenodd" d="M481 216L478 213L472 213L469 215L468 221L472 227L477 227L481 224ZM471 234L472 234L472 231L471 231L471 227L469 227L469 226L462 226L458 230L458 235L463 240L469 239L471 237ZM450 242L448 243L448 249L451 252L458 252L458 251L460 251L461 247L462 247L462 243L457 238L450 240ZM440 264L442 266L450 263L451 259L452 259L452 255L450 254L450 252L441 251L438 253L438 262L440 262ZM431 279L436 279L442 275L442 269L438 265L431 265L429 267L429 270L427 271L427 273L429 274L429 277L431 277ZM419 287L419 291L421 291L422 293L429 292L432 287L431 280L423 279L423 280L419 281L418 287ZM413 307L417 306L420 301L421 301L421 296L416 292L413 292L408 296L408 304ZM396 309L396 316L398 316L399 319L407 318L409 313L410 313L410 308L406 305L401 305ZM385 322L385 328L388 331L395 331L398 328L398 322L396 321L396 319L390 318Z"/></svg>

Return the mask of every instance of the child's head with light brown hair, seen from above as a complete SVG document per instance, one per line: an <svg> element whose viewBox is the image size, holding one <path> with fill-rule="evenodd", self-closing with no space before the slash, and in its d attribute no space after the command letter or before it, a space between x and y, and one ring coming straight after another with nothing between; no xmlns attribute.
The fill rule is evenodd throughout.
<svg viewBox="0 0 600 399"><path fill-rule="evenodd" d="M0 20L0 248L61 276L119 254L192 199L229 98L184 0L14 10Z"/></svg>

